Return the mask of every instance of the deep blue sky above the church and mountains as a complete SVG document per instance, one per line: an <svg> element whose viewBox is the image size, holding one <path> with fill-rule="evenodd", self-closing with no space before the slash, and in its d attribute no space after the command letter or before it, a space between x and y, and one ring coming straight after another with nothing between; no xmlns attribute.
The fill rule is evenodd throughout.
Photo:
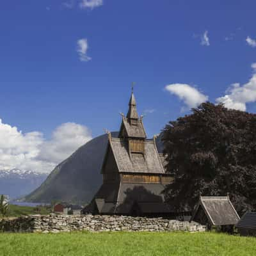
<svg viewBox="0 0 256 256"><path fill-rule="evenodd" d="M234 0L3 1L0 118L48 143L67 122L94 137L119 129L132 81L148 137L202 99L226 95L255 113L255 10Z"/></svg>

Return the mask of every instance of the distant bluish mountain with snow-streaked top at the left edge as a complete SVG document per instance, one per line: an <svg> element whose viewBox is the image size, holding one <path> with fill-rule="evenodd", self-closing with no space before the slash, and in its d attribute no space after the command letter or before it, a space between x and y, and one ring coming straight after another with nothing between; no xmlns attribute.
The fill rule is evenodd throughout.
<svg viewBox="0 0 256 256"><path fill-rule="evenodd" d="M0 195L8 195L11 199L28 195L38 188L46 178L46 173L19 169L0 170Z"/></svg>

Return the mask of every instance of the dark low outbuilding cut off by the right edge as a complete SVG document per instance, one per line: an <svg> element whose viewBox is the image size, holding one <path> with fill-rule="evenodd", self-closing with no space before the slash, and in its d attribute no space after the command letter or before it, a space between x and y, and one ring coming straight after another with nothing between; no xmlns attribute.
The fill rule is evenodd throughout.
<svg viewBox="0 0 256 256"><path fill-rule="evenodd" d="M244 213L236 227L241 236L256 236L256 212Z"/></svg>

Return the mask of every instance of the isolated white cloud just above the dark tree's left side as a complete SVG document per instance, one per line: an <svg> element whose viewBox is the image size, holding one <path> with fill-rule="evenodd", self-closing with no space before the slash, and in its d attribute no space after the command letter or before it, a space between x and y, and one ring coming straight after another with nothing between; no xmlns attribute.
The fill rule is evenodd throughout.
<svg viewBox="0 0 256 256"><path fill-rule="evenodd" d="M208 96L199 92L189 84L169 84L165 86L165 89L178 96L180 100L184 101L184 104L186 104L188 108L195 108L202 102L208 100Z"/></svg>

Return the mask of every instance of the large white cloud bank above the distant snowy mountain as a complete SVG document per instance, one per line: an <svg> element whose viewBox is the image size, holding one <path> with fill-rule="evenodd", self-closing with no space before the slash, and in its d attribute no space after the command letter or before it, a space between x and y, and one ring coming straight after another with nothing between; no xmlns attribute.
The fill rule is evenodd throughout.
<svg viewBox="0 0 256 256"><path fill-rule="evenodd" d="M0 119L0 170L51 172L91 139L88 128L79 124L62 124L54 130L51 140L45 140L41 132L22 133Z"/></svg>

